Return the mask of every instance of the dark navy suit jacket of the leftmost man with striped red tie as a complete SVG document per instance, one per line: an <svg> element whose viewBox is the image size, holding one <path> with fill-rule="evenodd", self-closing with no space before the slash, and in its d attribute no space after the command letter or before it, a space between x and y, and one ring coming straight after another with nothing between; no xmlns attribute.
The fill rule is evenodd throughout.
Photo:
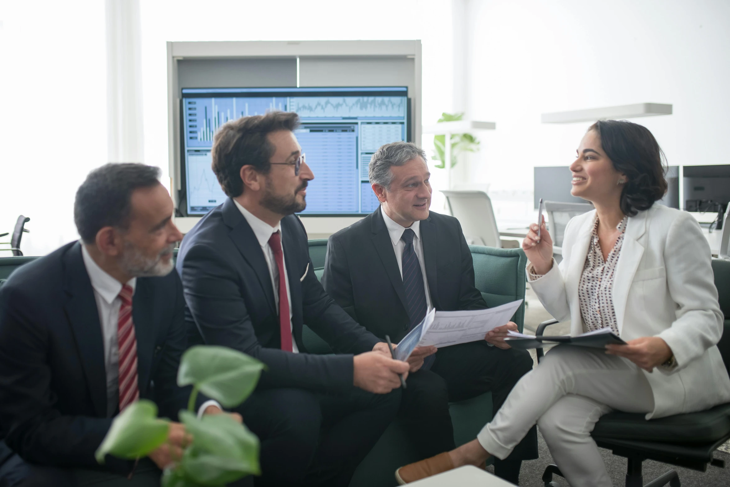
<svg viewBox="0 0 730 487"><path fill-rule="evenodd" d="M175 272L137 278L139 396L169 418L188 397L176 384L186 348L183 300ZM94 452L112 424L105 370L81 245L66 244L16 270L0 288L0 437L9 448L33 464L99 467ZM126 473L131 462L107 456L107 467Z"/></svg>

